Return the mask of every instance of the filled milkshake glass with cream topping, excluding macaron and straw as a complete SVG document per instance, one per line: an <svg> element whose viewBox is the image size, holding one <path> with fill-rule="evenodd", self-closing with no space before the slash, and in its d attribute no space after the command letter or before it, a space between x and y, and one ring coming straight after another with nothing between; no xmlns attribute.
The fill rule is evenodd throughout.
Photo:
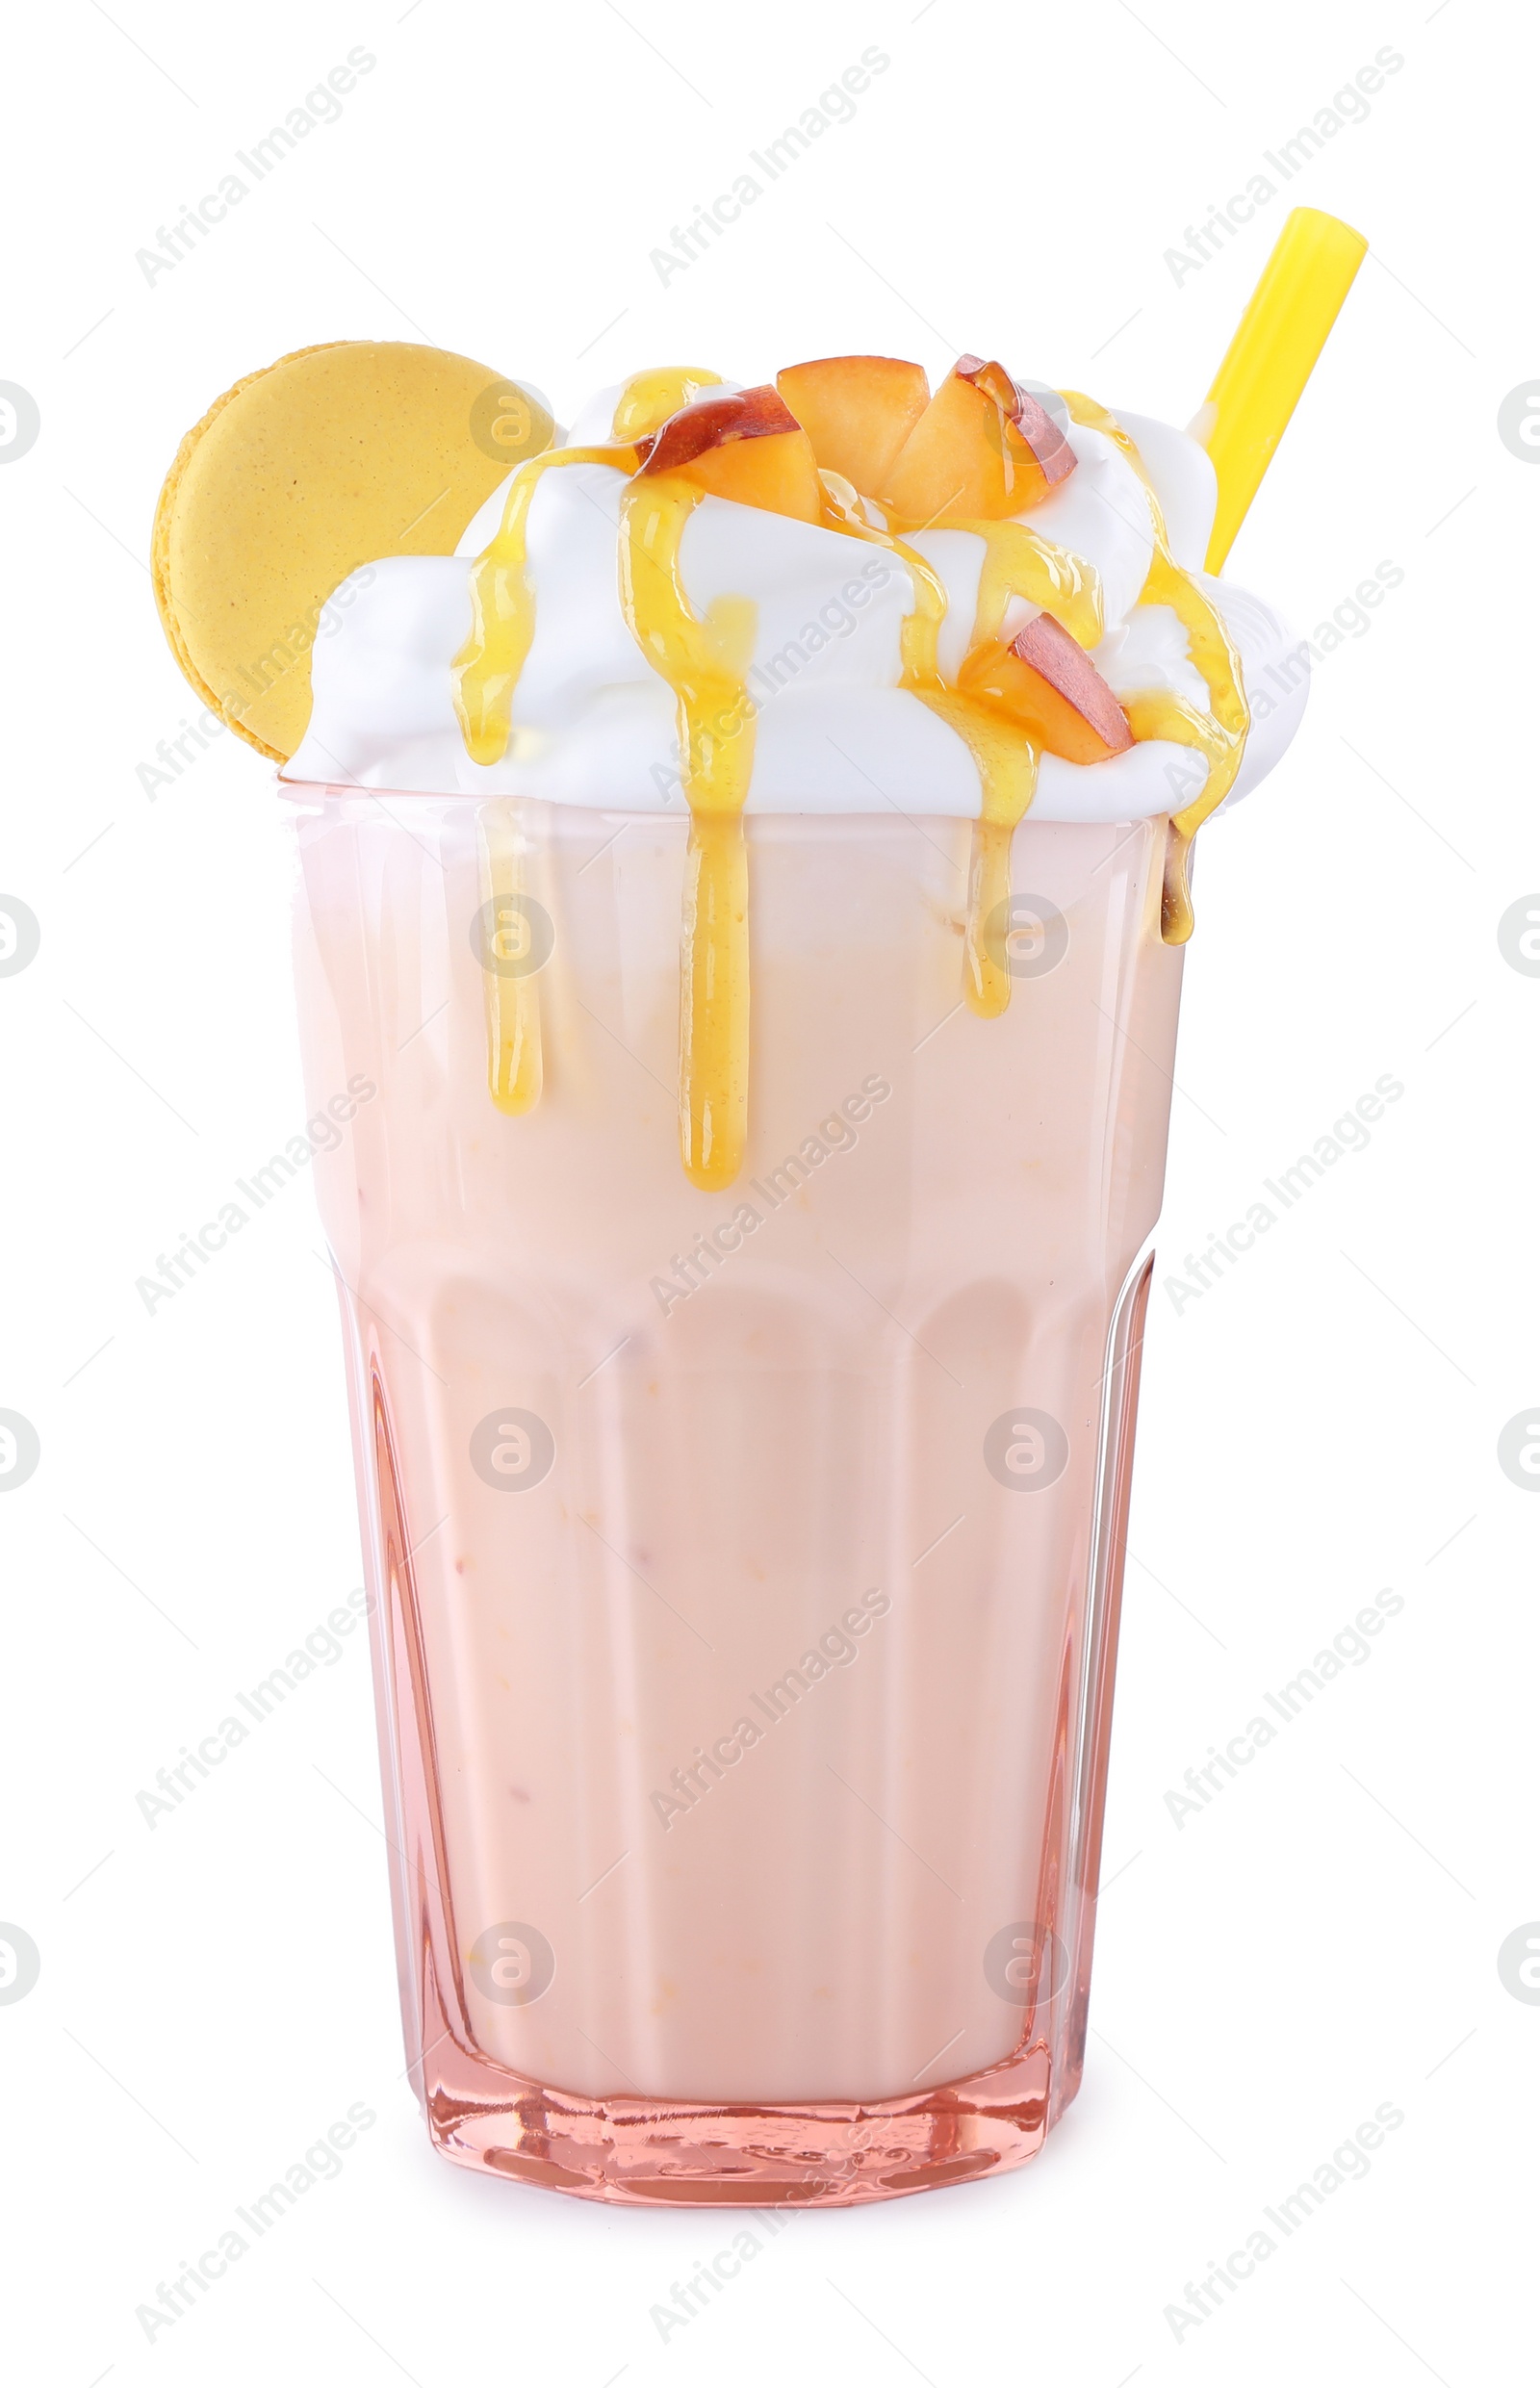
<svg viewBox="0 0 1540 2388"><path fill-rule="evenodd" d="M649 370L327 595L301 1029L461 2164L843 2204L1079 2085L1191 843L1304 702L1213 444Z"/></svg>

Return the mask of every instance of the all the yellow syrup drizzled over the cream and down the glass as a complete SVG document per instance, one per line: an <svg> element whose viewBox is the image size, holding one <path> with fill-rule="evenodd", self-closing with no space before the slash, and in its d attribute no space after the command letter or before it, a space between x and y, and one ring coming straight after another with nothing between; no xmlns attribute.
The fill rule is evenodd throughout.
<svg viewBox="0 0 1540 2388"><path fill-rule="evenodd" d="M678 473L637 475L637 442L659 430L719 375L669 365L633 375L614 413L614 444L571 447L535 456L509 487L497 537L478 559L470 597L473 628L454 659L454 702L466 750L480 764L504 757L513 690L535 638L535 590L528 578L528 513L540 475L563 463L609 463L633 475L621 494L621 609L649 666L673 690L678 707L680 781L690 805L690 845L680 919L678 1134L685 1175L702 1189L733 1182L747 1144L750 1077L750 876L743 810L754 764L757 707L747 690L757 607L750 597L716 597L700 616L680 578L680 542L702 490ZM1160 504L1139 449L1094 399L1065 392L1070 413L1115 439L1146 490L1156 552L1141 604L1170 604L1182 621L1191 659L1208 690L1203 714L1170 690L1125 704L1134 738L1168 738L1208 762L1201 795L1172 812L1160 907L1168 943L1191 936L1191 841L1234 786L1246 743L1249 709L1234 642L1191 576L1170 552ZM845 537L886 547L910 573L914 607L900 628L900 688L907 688L967 745L979 771L979 817L972 829L962 991L979 1017L1010 1003L1005 931L1010 907L1010 845L1036 793L1041 750L1022 724L953 688L938 661L945 587L905 540L867 518L862 499L836 473L821 473L824 525ZM1012 597L1036 604L1082 647L1103 638L1103 595L1091 564L1043 540L1027 523L969 521L984 540L984 568L969 650L996 640ZM523 934L523 841L506 805L487 805L478 824L482 903L492 936L518 950ZM494 943L494 955L499 953ZM499 1110L523 1113L540 1098L540 998L532 974L485 972L487 1075Z"/></svg>

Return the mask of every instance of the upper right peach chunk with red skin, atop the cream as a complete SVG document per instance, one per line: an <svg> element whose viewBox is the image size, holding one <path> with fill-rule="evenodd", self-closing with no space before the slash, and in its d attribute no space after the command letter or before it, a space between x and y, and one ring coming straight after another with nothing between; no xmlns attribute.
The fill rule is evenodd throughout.
<svg viewBox="0 0 1540 2388"><path fill-rule="evenodd" d="M981 356L960 356L874 497L910 528L1003 521L1048 497L1074 449L1043 406Z"/></svg>

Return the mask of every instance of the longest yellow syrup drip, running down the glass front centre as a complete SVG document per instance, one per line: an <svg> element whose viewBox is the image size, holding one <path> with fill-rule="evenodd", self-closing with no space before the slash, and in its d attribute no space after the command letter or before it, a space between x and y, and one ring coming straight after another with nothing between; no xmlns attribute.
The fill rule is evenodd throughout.
<svg viewBox="0 0 1540 2388"><path fill-rule="evenodd" d="M716 597L695 614L678 549L704 490L642 475L621 499L621 609L676 695L690 850L678 967L678 1141L685 1175L714 1192L743 1165L750 1101L750 881L743 805L754 767L747 671L759 609Z"/></svg>

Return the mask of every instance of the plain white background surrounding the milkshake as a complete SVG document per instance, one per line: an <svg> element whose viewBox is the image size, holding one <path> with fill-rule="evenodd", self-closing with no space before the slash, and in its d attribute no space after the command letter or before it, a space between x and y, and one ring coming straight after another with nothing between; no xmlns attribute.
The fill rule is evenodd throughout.
<svg viewBox="0 0 1540 2388"><path fill-rule="evenodd" d="M1533 521L1497 437L1540 368L1533 36L1516 10L1332 0L984 5L57 0L12 17L0 377L10 683L0 886L43 927L0 979L0 2006L17 2378L903 2383L1237 2378L1478 2388L1533 2338L1540 1915L1533 1533L1497 1464L1540 1392L1540 979L1497 922L1540 888ZM136 248L353 45L377 60L203 248ZM891 64L664 287L649 251L862 50ZM1242 234L1213 203L1380 48L1404 67ZM306 341L411 339L571 420L642 363L960 349L1187 420L1289 203L1373 256L1232 559L1320 664L1275 781L1206 841L1146 1349L1094 2037L1022 2173L805 2214L664 2345L649 2307L738 2228L456 2173L401 2080L361 1638L174 1817L136 1808L358 1583L332 1287L303 1184L153 1318L134 1280L303 1118L284 860L193 712L146 554L177 439ZM1540 451L1535 451L1540 456ZM1540 903L1540 898L1535 898ZM1380 1075L1404 1098L1175 1309ZM1404 1612L1177 1829L1165 1793L1382 1586ZM1540 1930L1540 1925L1538 1925ZM375 2128L201 2307L136 2304L349 2104ZM1179 2340L1184 2283L1390 2101L1337 2190ZM1277 2233L1273 2233L1277 2238Z"/></svg>

